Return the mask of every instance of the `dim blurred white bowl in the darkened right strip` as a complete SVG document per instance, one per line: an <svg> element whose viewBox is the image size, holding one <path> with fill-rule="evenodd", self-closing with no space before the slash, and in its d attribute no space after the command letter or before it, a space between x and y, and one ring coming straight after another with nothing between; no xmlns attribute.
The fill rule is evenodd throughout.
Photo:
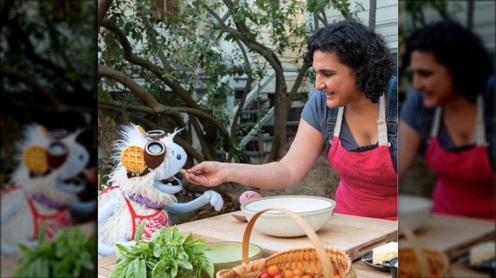
<svg viewBox="0 0 496 278"><path fill-rule="evenodd" d="M403 221L415 231L420 228L431 215L433 202L420 196L398 195L398 221ZM398 230L402 234L401 229Z"/></svg>

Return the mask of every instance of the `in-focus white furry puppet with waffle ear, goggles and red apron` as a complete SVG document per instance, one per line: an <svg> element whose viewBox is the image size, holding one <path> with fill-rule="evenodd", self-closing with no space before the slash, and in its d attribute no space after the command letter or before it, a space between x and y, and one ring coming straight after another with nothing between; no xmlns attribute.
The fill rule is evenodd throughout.
<svg viewBox="0 0 496 278"><path fill-rule="evenodd" d="M189 212L210 204L220 210L224 201L219 193L206 191L189 203L177 203L174 194L183 184L175 174L186 163L186 152L164 131L145 132L140 126L125 125L123 139L114 143L117 166L98 197L98 254L115 254L115 243L132 244L136 228L146 220L142 238L169 226L171 212Z"/></svg>

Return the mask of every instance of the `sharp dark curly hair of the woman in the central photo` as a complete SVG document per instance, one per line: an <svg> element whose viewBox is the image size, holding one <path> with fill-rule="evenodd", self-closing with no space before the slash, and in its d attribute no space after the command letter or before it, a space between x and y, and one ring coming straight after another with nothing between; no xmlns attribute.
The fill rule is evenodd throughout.
<svg viewBox="0 0 496 278"><path fill-rule="evenodd" d="M320 28L310 37L303 60L313 63L316 50L337 53L339 62L355 72L355 86L364 91L372 103L386 91L388 81L395 72L384 37L354 20L334 22Z"/></svg>

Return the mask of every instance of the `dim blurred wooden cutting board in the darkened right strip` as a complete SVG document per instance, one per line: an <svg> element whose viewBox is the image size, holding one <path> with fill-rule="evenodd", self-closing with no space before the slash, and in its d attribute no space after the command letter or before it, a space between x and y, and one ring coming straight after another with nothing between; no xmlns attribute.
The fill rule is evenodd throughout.
<svg viewBox="0 0 496 278"><path fill-rule="evenodd" d="M433 213L415 236L422 246L442 251L453 260L478 243L494 240L494 233L494 221ZM409 243L400 236L399 247L404 246Z"/></svg>

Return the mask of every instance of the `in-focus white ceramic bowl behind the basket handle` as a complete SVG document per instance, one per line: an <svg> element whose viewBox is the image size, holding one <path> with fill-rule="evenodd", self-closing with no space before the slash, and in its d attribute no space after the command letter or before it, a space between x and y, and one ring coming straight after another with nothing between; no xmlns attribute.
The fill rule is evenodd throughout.
<svg viewBox="0 0 496 278"><path fill-rule="evenodd" d="M315 196L277 196L250 200L241 205L248 221L253 215L268 208L289 209L303 218L310 227L317 231L331 218L336 207L334 200ZM288 215L269 210L260 215L253 228L261 233L277 237L296 237L306 235L305 231Z"/></svg>

